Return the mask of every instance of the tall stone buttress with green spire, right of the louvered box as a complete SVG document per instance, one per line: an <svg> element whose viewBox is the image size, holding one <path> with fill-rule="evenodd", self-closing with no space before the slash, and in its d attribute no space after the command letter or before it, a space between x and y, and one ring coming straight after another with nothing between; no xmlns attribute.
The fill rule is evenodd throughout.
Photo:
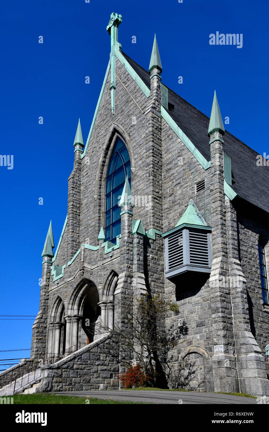
<svg viewBox="0 0 269 432"><path fill-rule="evenodd" d="M210 137L210 206L212 226L212 270L210 303L213 332L213 381L215 391L238 392L238 373L234 356L234 335L230 286L224 193L223 135L219 105L214 95L208 135Z"/></svg>

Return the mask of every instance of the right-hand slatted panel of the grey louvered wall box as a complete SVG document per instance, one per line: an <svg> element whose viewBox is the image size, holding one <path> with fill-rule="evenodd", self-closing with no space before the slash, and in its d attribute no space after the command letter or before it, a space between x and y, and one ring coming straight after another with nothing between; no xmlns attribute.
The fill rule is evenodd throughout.
<svg viewBox="0 0 269 432"><path fill-rule="evenodd" d="M190 264L209 265L207 232L189 232Z"/></svg>

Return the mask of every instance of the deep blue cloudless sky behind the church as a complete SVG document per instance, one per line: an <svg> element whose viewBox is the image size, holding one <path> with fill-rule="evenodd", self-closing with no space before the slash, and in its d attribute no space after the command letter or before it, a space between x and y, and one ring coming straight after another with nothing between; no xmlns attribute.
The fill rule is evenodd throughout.
<svg viewBox="0 0 269 432"><path fill-rule="evenodd" d="M0 167L0 314L38 312L41 252L50 219L56 245L63 228L78 118L86 142L109 61L110 14L122 14L126 54L147 69L156 32L163 83L208 116L216 89L225 128L268 154L268 9L261 0L2 3L1 154L14 155L14 168ZM243 48L211 46L217 31L242 33ZM1 320L0 350L29 348L32 323Z"/></svg>

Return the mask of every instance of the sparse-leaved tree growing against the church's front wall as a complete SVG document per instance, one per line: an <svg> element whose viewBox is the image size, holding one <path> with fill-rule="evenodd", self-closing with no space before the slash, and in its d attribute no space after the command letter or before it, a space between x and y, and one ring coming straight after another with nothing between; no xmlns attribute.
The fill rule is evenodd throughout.
<svg viewBox="0 0 269 432"><path fill-rule="evenodd" d="M139 363L145 375L150 377L151 385L167 388L172 371L169 353L188 334L185 320L179 327L166 326L167 315L178 313L178 305L160 295L122 295L117 308L121 319L114 324L113 330L101 322L95 327L95 333L111 333L119 346L119 352L115 354L122 365L128 367Z"/></svg>

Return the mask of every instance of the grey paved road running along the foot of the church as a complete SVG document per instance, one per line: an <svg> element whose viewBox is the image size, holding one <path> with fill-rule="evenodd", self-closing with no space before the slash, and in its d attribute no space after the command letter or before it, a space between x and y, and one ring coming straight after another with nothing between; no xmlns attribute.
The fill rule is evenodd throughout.
<svg viewBox="0 0 269 432"><path fill-rule="evenodd" d="M256 404L252 397L231 396L230 394L197 393L185 391L158 390L92 390L92 391L64 391L54 394L69 396L97 397L97 399L113 399L144 403L174 403L182 400L183 404Z"/></svg>

